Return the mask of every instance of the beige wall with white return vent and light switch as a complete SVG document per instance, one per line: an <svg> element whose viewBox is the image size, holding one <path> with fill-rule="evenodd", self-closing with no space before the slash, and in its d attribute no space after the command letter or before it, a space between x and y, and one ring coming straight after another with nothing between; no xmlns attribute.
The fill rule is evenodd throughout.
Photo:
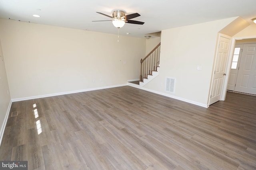
<svg viewBox="0 0 256 170"><path fill-rule="evenodd" d="M162 30L159 76L144 88L207 107L217 34L234 19ZM165 92L166 77L176 78L175 93Z"/></svg>

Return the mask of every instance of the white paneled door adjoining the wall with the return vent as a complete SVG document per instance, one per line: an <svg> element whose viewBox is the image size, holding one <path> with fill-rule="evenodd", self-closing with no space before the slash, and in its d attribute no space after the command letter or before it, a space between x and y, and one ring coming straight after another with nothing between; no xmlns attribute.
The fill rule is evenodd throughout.
<svg viewBox="0 0 256 170"><path fill-rule="evenodd" d="M220 36L218 50L214 65L214 75L210 94L210 103L213 104L220 100L222 84L224 80L226 63L229 51L230 38Z"/></svg>

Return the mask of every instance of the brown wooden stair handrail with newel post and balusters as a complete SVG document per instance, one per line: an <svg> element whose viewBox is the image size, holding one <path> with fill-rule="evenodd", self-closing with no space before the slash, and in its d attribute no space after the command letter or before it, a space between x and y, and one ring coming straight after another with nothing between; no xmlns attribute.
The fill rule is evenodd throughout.
<svg viewBox="0 0 256 170"><path fill-rule="evenodd" d="M144 58L144 59L140 59L140 82L143 82L143 76L142 76L142 63L146 60L146 59L148 59L148 57L150 57L151 56L151 54L152 53L154 53L154 51L156 51L156 49L158 49L158 47L161 45L161 43L159 43L158 45L156 45L156 47L152 50L152 51L150 51L150 53L148 53L148 55L146 55L146 57ZM160 53L160 50L159 50L159 53ZM155 55L156 55L156 53L155 53ZM156 56L155 56L156 57ZM159 56L160 57L160 56ZM151 64L151 73L152 73L152 67L153 67L153 59L150 59L150 62L151 62L151 60L152 60L152 63L147 63L147 68L146 68L146 65L145 65L145 70L147 70L147 73L146 73L146 71L145 71L145 77L144 78L147 78L147 76L148 76L148 74L150 74L150 68L149 68L149 70L148 70L148 66L150 66L150 64ZM155 62L156 61L156 62ZM159 61L158 61L158 54L157 54L157 58L156 59L154 59L154 71L156 71L155 70L155 67L157 67L159 65ZM143 74L144 74L144 66L143 66ZM147 75L146 75L147 74Z"/></svg>

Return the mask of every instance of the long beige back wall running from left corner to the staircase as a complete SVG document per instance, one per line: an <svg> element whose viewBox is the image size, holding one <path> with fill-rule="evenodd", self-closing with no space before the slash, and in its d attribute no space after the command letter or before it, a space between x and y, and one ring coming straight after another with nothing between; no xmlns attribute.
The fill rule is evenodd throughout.
<svg viewBox="0 0 256 170"><path fill-rule="evenodd" d="M12 20L0 20L0 38L12 99L126 84L146 49L142 38Z"/></svg>

